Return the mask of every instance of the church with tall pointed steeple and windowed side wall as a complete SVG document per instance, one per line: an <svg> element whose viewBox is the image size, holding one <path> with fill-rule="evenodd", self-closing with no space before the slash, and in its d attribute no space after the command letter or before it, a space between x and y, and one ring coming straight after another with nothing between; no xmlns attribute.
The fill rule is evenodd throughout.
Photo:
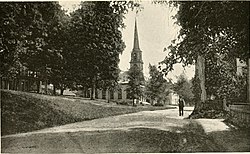
<svg viewBox="0 0 250 154"><path fill-rule="evenodd" d="M130 59L130 69L132 67L136 67L143 73L143 60L142 60L142 51L139 47L139 37L137 30L137 22L135 20L135 28L134 28L134 44L131 52ZM114 91L97 89L96 98L106 99L116 102L129 102L131 99L127 95L127 87L128 87L128 71L122 71L119 75L118 88Z"/></svg>

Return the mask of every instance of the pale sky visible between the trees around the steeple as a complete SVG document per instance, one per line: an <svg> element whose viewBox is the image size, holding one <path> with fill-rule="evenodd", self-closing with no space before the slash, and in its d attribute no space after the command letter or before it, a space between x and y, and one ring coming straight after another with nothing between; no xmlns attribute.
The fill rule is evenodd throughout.
<svg viewBox="0 0 250 154"><path fill-rule="evenodd" d="M59 1L60 5L66 10L73 11L77 8L79 1ZM150 1L140 2L143 9L137 14L136 11L129 10L125 14L125 29L122 30L122 39L126 48L120 55L119 67L122 71L129 69L130 54L133 49L135 18L137 20L137 30L139 35L140 49L142 50L142 58L144 62L143 73L149 76L149 64L157 65L164 60L168 51L163 51L165 47L171 44L171 40L175 39L180 29L174 24L175 20L171 16L176 14L174 8L166 5L152 4ZM194 76L194 66L183 68L182 64L176 64L174 70L166 76L176 82L176 76L181 73L191 79Z"/></svg>

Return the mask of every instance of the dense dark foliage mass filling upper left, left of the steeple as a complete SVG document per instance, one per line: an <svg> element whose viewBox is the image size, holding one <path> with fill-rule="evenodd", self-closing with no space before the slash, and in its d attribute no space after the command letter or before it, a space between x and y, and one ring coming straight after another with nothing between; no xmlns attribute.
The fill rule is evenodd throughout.
<svg viewBox="0 0 250 154"><path fill-rule="evenodd" d="M1 3L1 77L26 69L62 90L114 86L129 7L134 3L82 2L69 16L58 2Z"/></svg>

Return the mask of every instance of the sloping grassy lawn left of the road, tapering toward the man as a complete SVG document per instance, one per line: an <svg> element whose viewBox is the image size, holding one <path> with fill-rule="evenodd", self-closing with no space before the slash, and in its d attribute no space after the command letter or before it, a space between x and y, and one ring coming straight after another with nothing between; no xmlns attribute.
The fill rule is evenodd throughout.
<svg viewBox="0 0 250 154"><path fill-rule="evenodd" d="M170 107L122 106L104 100L73 99L1 90L1 135L29 132L84 120Z"/></svg>

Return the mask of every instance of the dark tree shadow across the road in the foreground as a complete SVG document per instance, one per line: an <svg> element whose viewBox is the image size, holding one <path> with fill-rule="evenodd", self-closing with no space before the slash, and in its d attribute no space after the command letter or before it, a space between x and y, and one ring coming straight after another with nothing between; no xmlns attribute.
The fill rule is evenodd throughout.
<svg viewBox="0 0 250 154"><path fill-rule="evenodd" d="M2 152L165 153L223 151L227 150L218 145L212 136L207 135L202 126L195 121L190 121L184 127L171 127L171 131L135 127L127 130L33 134L29 137L2 139Z"/></svg>

